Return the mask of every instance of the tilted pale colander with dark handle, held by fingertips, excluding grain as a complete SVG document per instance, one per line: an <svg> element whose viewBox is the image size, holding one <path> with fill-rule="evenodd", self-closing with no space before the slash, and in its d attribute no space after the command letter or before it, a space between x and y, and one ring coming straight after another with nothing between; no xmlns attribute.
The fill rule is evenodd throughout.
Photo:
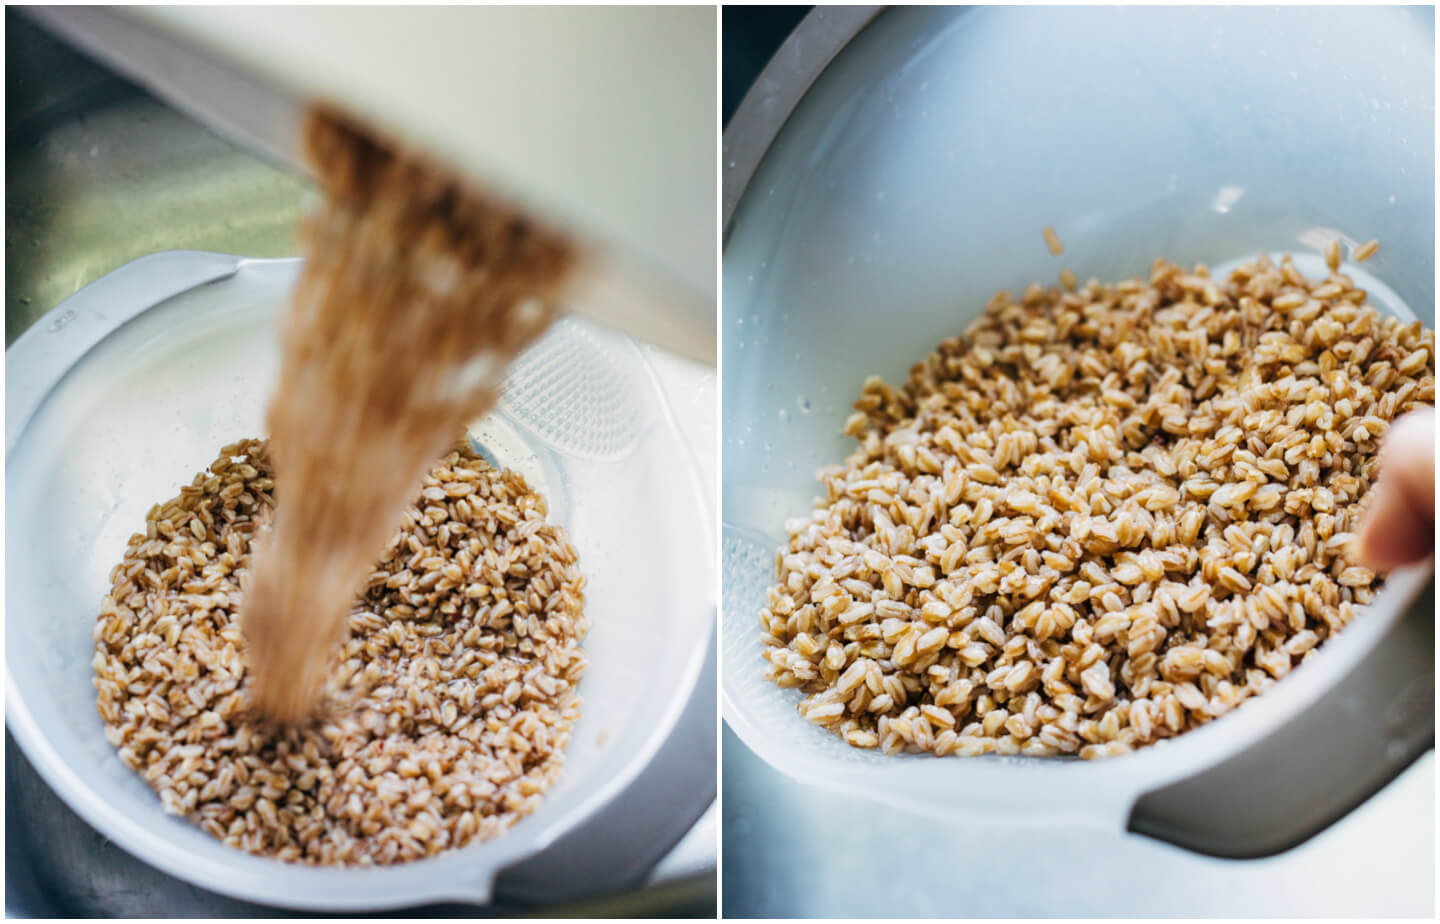
<svg viewBox="0 0 1440 924"><path fill-rule="evenodd" d="M814 26L809 39L827 35ZM796 96L785 66L814 52L776 55L760 117L726 135L765 151L723 269L721 694L746 746L942 823L1129 826L1228 856L1296 843L1431 747L1428 569L1394 574L1266 695L1096 763L847 747L765 681L757 613L785 520L811 509L815 469L854 448L841 429L864 379L903 381L998 289L1061 268L1145 275L1156 256L1224 272L1292 252L1315 273L1328 240L1348 255L1378 237L1345 272L1433 327L1433 10L897 7L773 138L747 134L769 131L765 99Z"/></svg>

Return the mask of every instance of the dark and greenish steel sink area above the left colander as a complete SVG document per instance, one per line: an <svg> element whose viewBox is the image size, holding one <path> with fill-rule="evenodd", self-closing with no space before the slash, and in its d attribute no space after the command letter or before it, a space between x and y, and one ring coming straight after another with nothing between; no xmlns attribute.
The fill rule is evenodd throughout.
<svg viewBox="0 0 1440 924"><path fill-rule="evenodd" d="M6 345L137 256L291 256L310 184L6 9Z"/></svg>

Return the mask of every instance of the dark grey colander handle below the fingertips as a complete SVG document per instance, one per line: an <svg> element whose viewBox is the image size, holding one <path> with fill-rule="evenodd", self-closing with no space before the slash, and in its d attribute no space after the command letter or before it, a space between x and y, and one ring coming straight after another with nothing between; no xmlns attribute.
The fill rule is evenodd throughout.
<svg viewBox="0 0 1440 924"><path fill-rule="evenodd" d="M1434 747L1434 576L1371 653L1293 721L1136 800L1128 828L1223 858L1312 838Z"/></svg>

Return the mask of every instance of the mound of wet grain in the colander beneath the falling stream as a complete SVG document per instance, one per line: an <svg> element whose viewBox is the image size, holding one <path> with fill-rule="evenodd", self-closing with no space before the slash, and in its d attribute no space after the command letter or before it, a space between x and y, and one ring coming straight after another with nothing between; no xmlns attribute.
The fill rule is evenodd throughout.
<svg viewBox="0 0 1440 924"><path fill-rule="evenodd" d="M432 468L348 616L325 708L251 710L238 613L274 507L245 440L151 508L95 626L121 760L225 843L373 865L492 838L534 810L579 714L588 622L576 554L524 478L468 449Z"/></svg>

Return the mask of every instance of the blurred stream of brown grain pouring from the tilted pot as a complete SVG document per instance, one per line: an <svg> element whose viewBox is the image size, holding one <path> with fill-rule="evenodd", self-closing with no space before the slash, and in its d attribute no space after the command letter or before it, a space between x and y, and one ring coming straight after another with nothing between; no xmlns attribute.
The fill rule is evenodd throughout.
<svg viewBox="0 0 1440 924"><path fill-rule="evenodd" d="M312 111L324 204L282 330L276 508L242 626L253 705L308 718L346 616L435 459L498 397L576 265L560 235L423 157Z"/></svg>

